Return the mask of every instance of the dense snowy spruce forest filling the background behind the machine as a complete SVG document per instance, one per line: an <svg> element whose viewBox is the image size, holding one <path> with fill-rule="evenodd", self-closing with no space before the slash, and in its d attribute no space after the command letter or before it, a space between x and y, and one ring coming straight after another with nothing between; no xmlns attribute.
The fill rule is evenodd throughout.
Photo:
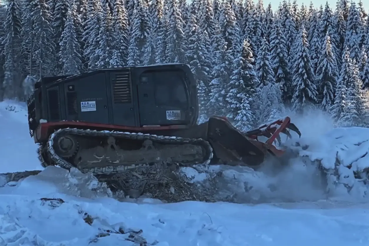
<svg viewBox="0 0 369 246"><path fill-rule="evenodd" d="M41 76L186 63L202 118L246 130L313 108L366 125L369 18L361 2L8 0L0 9L0 100Z"/></svg>

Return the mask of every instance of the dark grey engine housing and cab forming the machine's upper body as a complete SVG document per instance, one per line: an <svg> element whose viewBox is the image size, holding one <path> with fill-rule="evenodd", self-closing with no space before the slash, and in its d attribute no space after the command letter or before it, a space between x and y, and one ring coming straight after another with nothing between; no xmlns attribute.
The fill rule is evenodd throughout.
<svg viewBox="0 0 369 246"><path fill-rule="evenodd" d="M43 119L138 128L190 126L198 117L196 80L184 64L44 77L31 98L33 124Z"/></svg>

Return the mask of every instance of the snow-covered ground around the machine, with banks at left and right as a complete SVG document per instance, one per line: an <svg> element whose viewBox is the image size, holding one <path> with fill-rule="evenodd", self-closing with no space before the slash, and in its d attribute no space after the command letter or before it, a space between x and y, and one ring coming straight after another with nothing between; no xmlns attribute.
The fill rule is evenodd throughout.
<svg viewBox="0 0 369 246"><path fill-rule="evenodd" d="M0 173L42 170L26 114L25 105L0 103ZM332 130L324 116L309 118L294 120L303 137L287 141L298 140L294 153L305 157L293 159L283 173L222 166L206 173L183 170L200 183L221 172L220 192L242 196L248 190L248 198L269 203L120 202L92 175L48 167L18 182L0 180L0 246L368 246L363 170L369 130ZM299 202L270 203L278 199Z"/></svg>

